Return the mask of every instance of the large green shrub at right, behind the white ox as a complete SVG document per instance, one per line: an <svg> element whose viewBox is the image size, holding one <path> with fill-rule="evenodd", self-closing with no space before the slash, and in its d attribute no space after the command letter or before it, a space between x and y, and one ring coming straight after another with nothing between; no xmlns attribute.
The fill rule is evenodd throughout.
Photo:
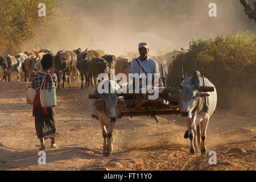
<svg viewBox="0 0 256 182"><path fill-rule="evenodd" d="M216 86L217 107L237 114L256 115L256 36L237 32L189 43L179 51L169 67L168 84L179 85L181 67L188 77L196 70Z"/></svg>

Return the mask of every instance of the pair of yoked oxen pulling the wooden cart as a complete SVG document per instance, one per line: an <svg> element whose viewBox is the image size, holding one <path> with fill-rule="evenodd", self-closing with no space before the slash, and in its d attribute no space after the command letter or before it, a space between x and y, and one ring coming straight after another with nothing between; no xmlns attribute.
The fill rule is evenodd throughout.
<svg viewBox="0 0 256 182"><path fill-rule="evenodd" d="M199 86L203 86L199 71L194 72L192 77L186 78L183 84L180 84L179 94L181 99L179 105L181 107L181 116L185 118L188 129L185 132L184 138L189 138L191 141L191 154L195 154L197 144L200 147L201 154L205 154L207 126L210 116L214 113L217 105L216 88L208 78L204 80L204 86L212 86L214 88L213 92L199 91ZM117 96L117 93L120 93L120 90L118 90L120 88L112 80L99 82L95 86L92 95L98 94L99 84L109 85L109 90L110 88L116 90L115 93L104 93L101 94L100 98L91 100L93 116L101 123L102 136L104 138L104 156L108 156L113 151L113 129L115 122L117 121L117 116L126 107L126 102L123 97Z"/></svg>

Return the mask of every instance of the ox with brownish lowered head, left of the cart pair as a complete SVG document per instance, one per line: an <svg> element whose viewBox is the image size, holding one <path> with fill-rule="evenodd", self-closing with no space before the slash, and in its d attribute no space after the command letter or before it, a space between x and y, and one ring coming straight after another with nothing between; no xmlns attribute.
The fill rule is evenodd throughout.
<svg viewBox="0 0 256 182"><path fill-rule="evenodd" d="M92 99L92 113L101 123L102 135L104 138L103 142L103 154L104 156L110 155L110 152L113 151L113 129L115 126L115 121L117 121L118 114L121 113L123 107L126 107L126 103L123 100L123 97L118 97L117 92L120 92L119 85L113 80L103 80L99 82L92 94L98 93L98 87L104 88L107 86L109 92L104 92L101 98ZM106 88L106 87L105 87ZM110 93L110 88L115 90L115 93Z"/></svg>

